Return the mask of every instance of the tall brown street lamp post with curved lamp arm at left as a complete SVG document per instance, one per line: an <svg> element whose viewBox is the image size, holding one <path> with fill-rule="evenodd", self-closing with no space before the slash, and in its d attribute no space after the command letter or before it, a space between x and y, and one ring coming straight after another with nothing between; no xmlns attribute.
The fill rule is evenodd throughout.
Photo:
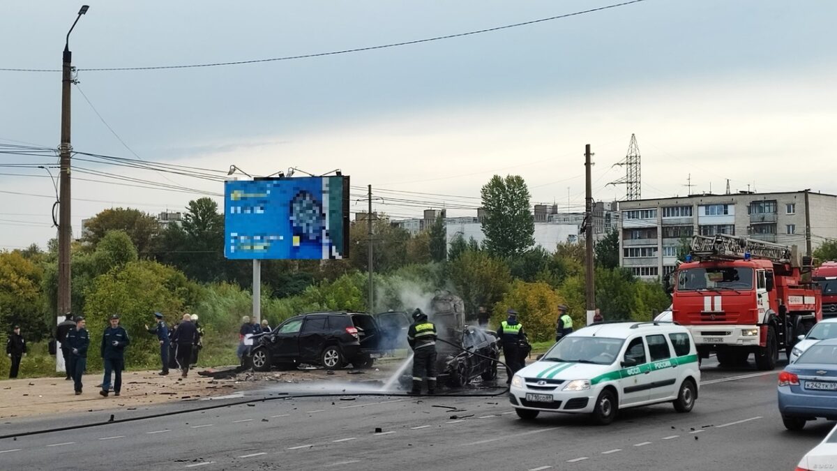
<svg viewBox="0 0 837 471"><path fill-rule="evenodd" d="M72 147L69 144L69 87L73 84L73 53L69 52L69 34L73 32L75 23L79 23L81 15L87 13L90 8L84 5L79 10L73 26L67 32L67 39L64 43L64 64L61 69L61 146L59 148L61 157L61 171L59 173L60 198L59 207L59 235L58 235L58 317L70 312L69 294L69 246L73 238L73 230L70 225L70 196L69 196L69 153Z"/></svg>

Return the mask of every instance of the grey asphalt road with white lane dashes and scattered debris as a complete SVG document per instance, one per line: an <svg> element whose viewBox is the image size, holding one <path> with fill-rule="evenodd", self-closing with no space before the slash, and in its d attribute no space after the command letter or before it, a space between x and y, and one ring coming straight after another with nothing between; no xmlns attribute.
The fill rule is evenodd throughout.
<svg viewBox="0 0 837 471"><path fill-rule="evenodd" d="M560 415L523 422L506 396L259 401L264 394L249 393L247 404L0 439L0 469L778 470L793 469L834 425L786 431L776 408L778 370L721 370L710 362L702 370L691 413L645 407L623 411L608 427ZM203 404L213 405L188 406ZM50 421L37 425L81 423Z"/></svg>

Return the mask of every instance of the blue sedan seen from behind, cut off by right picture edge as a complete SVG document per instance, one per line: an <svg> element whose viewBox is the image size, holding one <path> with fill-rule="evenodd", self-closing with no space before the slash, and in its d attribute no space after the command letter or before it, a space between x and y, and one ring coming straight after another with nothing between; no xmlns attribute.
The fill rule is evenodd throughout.
<svg viewBox="0 0 837 471"><path fill-rule="evenodd" d="M820 340L779 373L779 413L788 430L837 420L837 339Z"/></svg>

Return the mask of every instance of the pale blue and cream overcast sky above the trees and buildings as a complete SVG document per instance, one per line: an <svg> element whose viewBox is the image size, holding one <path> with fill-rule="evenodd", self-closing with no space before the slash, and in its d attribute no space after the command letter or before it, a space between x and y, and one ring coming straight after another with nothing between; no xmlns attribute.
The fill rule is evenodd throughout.
<svg viewBox="0 0 837 471"><path fill-rule="evenodd" d="M89 1L70 37L80 69L322 53L617 3ZM59 69L81 4L0 3L0 68ZM730 179L733 191L749 184L760 192L837 194L834 18L831 0L645 0L391 49L254 65L82 70L78 80L105 122L148 161L235 164L262 175L341 168L352 185L373 191L471 198L492 174L516 173L533 203L579 210L584 144L596 154L594 198L623 199L624 186L606 184L624 176L612 166L635 133L646 198L686 194L690 174L693 191L711 185L722 192ZM0 71L0 144L57 148L60 85L59 73ZM72 144L136 158L76 88ZM0 164L36 161L57 158L0 154ZM223 184L182 175L74 166L223 192ZM0 173L0 248L43 246L55 235L49 176L39 168ZM376 209L398 217L419 215L422 203L396 206L392 197L425 198L376 194L388 197ZM82 218L105 208L182 210L198 196L74 181L74 234Z"/></svg>

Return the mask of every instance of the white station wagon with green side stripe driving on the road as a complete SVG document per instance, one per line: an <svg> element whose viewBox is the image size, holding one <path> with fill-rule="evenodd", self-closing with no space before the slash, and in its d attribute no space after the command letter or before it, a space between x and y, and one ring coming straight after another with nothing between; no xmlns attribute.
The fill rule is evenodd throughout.
<svg viewBox="0 0 837 471"><path fill-rule="evenodd" d="M593 324L561 339L511 379L517 415L590 414L613 422L619 409L673 402L691 411L701 370L689 331L675 323Z"/></svg>

